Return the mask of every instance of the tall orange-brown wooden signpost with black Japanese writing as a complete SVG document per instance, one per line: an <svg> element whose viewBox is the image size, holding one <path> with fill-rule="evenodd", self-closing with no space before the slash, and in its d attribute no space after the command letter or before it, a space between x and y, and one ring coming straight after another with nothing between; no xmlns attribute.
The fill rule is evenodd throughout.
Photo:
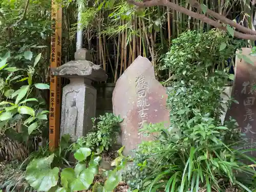
<svg viewBox="0 0 256 192"><path fill-rule="evenodd" d="M61 65L61 4L52 0L52 29L55 33L51 37L51 65L56 68ZM50 113L49 113L49 148L54 150L59 143L61 84L60 77L51 74L50 77Z"/></svg>

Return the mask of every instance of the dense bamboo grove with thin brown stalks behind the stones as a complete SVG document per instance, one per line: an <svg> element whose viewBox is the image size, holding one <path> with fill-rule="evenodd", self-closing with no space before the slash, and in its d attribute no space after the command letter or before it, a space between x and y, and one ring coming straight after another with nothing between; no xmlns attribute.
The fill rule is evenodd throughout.
<svg viewBox="0 0 256 192"><path fill-rule="evenodd" d="M186 0L170 1L191 11L196 11ZM2 2L6 2L6 0ZM25 2L15 2L14 13L21 15L25 8ZM109 75L108 82L116 82L138 55L145 56L152 61L159 79L168 78L168 72L160 74L158 66L163 54L172 44L172 39L186 30L204 32L211 29L208 24L177 11L169 10L167 7L137 9L129 5L126 0L65 0L62 3L62 62L74 59L77 8L82 5L83 48L90 50L94 63L101 65L106 70ZM251 5L250 0L200 0L200 3L235 20L240 25L253 28L251 21L253 20L254 6ZM41 11L38 12L38 9ZM30 1L29 14L24 21L49 23L50 11L50 0ZM2 29L5 30L4 25ZM18 30L18 28L14 29ZM45 36L42 41L44 45L50 45L50 35ZM49 48L44 50L44 58L40 74L44 74L41 75L42 81L47 82L49 81Z"/></svg>

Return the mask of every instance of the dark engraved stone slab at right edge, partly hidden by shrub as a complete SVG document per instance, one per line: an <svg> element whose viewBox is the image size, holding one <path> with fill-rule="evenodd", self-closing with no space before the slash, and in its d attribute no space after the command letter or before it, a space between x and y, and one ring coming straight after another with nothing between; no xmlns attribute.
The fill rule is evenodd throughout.
<svg viewBox="0 0 256 192"><path fill-rule="evenodd" d="M249 56L250 52L249 48L242 49L242 54L249 57L254 65L236 58L231 97L239 103L233 102L225 117L226 120L230 116L237 120L241 132L246 134L248 144L255 142L256 136L256 91L252 89L256 84L256 57ZM255 145L252 147L255 148ZM251 155L255 157L256 153L253 152Z"/></svg>

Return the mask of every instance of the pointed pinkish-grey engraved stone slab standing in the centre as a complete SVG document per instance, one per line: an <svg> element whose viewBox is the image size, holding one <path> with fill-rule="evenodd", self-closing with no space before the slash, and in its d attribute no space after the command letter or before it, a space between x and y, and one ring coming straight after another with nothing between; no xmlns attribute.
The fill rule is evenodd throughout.
<svg viewBox="0 0 256 192"><path fill-rule="evenodd" d="M156 80L150 60L137 57L117 80L112 98L114 114L124 119L121 141L125 155L142 140L152 139L138 132L144 123L165 122L169 126L166 99L166 90Z"/></svg>

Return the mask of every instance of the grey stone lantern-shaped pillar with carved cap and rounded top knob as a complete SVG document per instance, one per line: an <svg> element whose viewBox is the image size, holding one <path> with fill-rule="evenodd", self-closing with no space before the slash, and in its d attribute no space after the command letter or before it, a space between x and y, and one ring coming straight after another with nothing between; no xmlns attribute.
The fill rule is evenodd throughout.
<svg viewBox="0 0 256 192"><path fill-rule="evenodd" d="M108 76L90 60L86 49L75 53L75 60L52 69L54 75L67 77L70 83L62 90L60 137L70 134L72 141L92 129L91 118L96 113L96 89L92 81L105 81Z"/></svg>

